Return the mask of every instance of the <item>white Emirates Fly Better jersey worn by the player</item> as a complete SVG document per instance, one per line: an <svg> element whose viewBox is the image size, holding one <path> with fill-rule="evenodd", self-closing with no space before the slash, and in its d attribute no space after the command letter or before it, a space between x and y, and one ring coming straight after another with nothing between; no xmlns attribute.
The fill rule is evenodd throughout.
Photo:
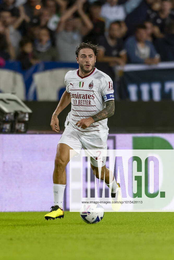
<svg viewBox="0 0 174 260"><path fill-rule="evenodd" d="M75 124L82 118L88 118L103 110L105 102L114 100L111 78L97 68L85 77L79 75L79 69L70 70L65 75L66 91L71 95L71 111L68 113L65 127L71 125L78 134L86 138L101 138L107 135L107 118L94 122L83 129ZM69 125L69 126L70 126Z"/></svg>

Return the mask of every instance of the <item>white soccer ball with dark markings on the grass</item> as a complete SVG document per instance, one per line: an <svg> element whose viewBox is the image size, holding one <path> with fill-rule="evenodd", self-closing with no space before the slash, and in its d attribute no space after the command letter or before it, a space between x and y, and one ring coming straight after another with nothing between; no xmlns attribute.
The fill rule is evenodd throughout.
<svg viewBox="0 0 174 260"><path fill-rule="evenodd" d="M100 204L83 204L80 210L82 220L87 224L99 223L104 216L104 208Z"/></svg>

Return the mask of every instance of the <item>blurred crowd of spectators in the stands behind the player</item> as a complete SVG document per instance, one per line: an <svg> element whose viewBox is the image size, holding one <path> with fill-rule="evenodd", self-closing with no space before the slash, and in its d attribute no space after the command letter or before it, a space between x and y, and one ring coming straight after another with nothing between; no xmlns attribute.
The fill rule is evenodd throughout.
<svg viewBox="0 0 174 260"><path fill-rule="evenodd" d="M75 62L82 41L111 78L116 64L174 61L174 0L0 0L0 66Z"/></svg>

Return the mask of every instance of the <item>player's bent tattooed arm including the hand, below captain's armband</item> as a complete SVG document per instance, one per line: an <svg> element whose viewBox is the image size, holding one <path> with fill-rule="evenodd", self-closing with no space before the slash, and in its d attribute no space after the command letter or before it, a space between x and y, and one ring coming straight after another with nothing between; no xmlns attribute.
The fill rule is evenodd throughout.
<svg viewBox="0 0 174 260"><path fill-rule="evenodd" d="M89 117L89 118L83 118L80 121L76 123L76 126L81 127L83 129L87 128L94 122L98 122L100 120L109 118L112 116L115 112L115 103L114 100L109 100L106 102L106 107L101 110L99 113Z"/></svg>

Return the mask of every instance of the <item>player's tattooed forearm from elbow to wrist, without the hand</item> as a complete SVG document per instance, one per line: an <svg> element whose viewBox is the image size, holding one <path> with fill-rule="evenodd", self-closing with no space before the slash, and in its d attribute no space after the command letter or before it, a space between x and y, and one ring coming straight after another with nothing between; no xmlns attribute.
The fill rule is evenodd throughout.
<svg viewBox="0 0 174 260"><path fill-rule="evenodd" d="M110 116L112 116L114 114L115 111L115 104L114 104L114 100L110 100L106 102L106 107L101 110L99 113L97 113L96 115L93 115L92 118L94 119L94 122L98 122L100 120L109 118Z"/></svg>

